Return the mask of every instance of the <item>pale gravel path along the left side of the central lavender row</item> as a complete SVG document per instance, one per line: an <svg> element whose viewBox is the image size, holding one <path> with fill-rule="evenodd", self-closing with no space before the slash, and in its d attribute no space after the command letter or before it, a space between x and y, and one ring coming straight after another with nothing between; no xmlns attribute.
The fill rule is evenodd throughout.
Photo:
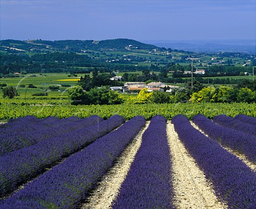
<svg viewBox="0 0 256 209"><path fill-rule="evenodd" d="M149 123L150 121L146 122L146 126L133 139L132 143L125 148L122 155L118 157L117 163L99 182L99 185L87 199L87 202L81 207L82 209L111 208L111 204L118 194L119 188L134 160L135 154L138 152L142 141L142 135L148 128Z"/></svg>

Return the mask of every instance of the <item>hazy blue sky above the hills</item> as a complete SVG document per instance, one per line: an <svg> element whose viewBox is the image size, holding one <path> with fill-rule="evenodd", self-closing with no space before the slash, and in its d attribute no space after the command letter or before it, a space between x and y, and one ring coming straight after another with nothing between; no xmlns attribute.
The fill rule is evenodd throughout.
<svg viewBox="0 0 256 209"><path fill-rule="evenodd" d="M256 39L256 0L0 0L0 39Z"/></svg>

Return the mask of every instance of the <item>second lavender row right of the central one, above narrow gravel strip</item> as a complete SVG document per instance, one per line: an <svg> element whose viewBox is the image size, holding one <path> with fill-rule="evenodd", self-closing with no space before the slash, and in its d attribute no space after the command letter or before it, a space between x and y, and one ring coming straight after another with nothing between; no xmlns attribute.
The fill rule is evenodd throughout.
<svg viewBox="0 0 256 209"><path fill-rule="evenodd" d="M220 117L225 118L226 116L220 115ZM255 136L215 124L203 115L194 116L193 122L211 139L217 141L224 147L230 147L239 153L243 153L248 160L256 163Z"/></svg>

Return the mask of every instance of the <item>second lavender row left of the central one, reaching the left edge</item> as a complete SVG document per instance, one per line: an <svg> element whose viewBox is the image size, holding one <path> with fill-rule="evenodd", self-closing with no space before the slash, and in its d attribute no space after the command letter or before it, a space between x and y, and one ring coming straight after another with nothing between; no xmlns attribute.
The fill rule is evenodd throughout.
<svg viewBox="0 0 256 209"><path fill-rule="evenodd" d="M1 156L0 197L11 193L22 183L43 172L45 168L50 168L63 157L79 151L125 122L119 115L100 123L97 123L98 116L93 116L91 120L94 121L93 126L52 137Z"/></svg>

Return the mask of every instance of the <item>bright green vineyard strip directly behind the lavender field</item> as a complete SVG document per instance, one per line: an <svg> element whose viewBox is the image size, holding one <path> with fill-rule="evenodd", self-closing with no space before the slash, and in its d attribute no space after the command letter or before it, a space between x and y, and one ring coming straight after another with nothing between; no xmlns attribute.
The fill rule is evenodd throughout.
<svg viewBox="0 0 256 209"><path fill-rule="evenodd" d="M154 115L163 115L171 120L177 114L183 114L191 120L197 114L203 114L206 118L225 114L234 117L238 114L256 116L256 104L251 103L177 103L177 104L121 104L121 105L70 105L63 100L36 101L35 99L2 99L0 108L0 120L9 120L27 115L33 115L38 119L54 116L59 119L77 116L88 118L91 115L99 115L108 119L113 115L121 115L130 120L137 115L150 120Z"/></svg>

